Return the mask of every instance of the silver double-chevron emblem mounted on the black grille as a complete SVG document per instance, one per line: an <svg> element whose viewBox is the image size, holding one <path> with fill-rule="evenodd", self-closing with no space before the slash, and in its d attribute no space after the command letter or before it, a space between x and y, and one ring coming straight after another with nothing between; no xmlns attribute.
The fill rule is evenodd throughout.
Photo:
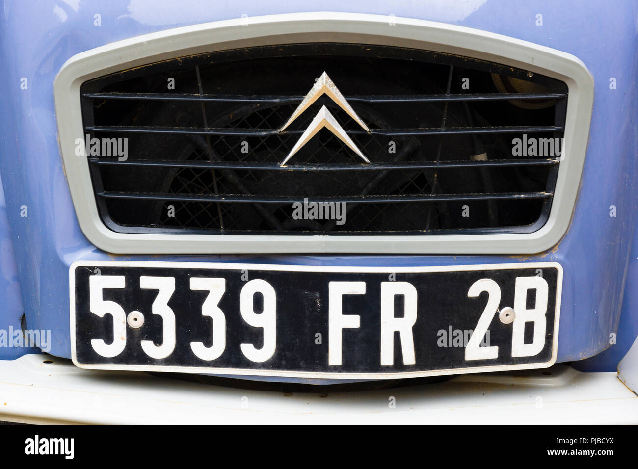
<svg viewBox="0 0 638 469"><path fill-rule="evenodd" d="M366 126L366 124L364 124L364 122L360 119L360 117L350 106L350 104L348 104L346 98L343 97L341 91L339 91L334 82L330 80L330 77L327 73L325 73L325 71L315 82L315 86L313 86L308 94L304 96L304 99L301 101L297 109L295 109L295 112L293 112L290 116L290 119L288 119L288 121L283 124L283 126L281 126L279 131L283 131L286 127L292 124L293 121L297 119L297 117L299 117L299 115L301 115L306 109L308 109L323 94L329 96L332 101L334 101L337 105L339 105L341 109L343 109L348 115L350 115L350 117L352 117L352 119L357 124L359 124L366 132L370 131L370 129ZM297 143L295 144L295 146L292 147L292 150L290 150L290 153L288 153L288 156L286 156L286 159L283 160L280 166L285 165L286 162L288 162L288 160L292 158L293 154L297 153L297 151L299 151L301 147L308 143L308 141L324 127L331 131L334 135L336 135L336 137L338 137L339 140L345 143L353 152L358 154L362 158L362 160L366 161L366 163L370 162L364 156L364 154L361 153L357 145L355 145L355 142L352 141L352 138L348 137L346 131L343 130L343 127L341 127L341 125L339 125L337 119L334 118L328 108L322 106L319 112L317 112L317 114L315 115L313 121L306 128L306 130L304 130L304 133L302 133L301 137L299 137L299 140L297 140Z"/></svg>

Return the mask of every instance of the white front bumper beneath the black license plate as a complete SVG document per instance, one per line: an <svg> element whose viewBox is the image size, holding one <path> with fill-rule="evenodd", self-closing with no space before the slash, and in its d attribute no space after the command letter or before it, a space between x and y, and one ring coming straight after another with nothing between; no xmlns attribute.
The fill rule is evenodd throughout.
<svg viewBox="0 0 638 469"><path fill-rule="evenodd" d="M44 363L52 360L53 363ZM551 373L546 375L544 373ZM556 365L334 394L249 391L48 355L0 361L0 420L82 424L638 424L616 373ZM392 399L394 398L394 399ZM394 403L394 407L392 407Z"/></svg>

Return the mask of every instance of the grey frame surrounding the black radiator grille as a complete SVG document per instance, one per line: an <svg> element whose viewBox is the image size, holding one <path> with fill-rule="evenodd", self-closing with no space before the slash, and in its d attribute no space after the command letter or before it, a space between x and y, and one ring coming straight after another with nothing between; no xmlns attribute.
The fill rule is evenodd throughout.
<svg viewBox="0 0 638 469"><path fill-rule="evenodd" d="M593 106L593 78L576 57L526 41L425 20L354 13L292 13L224 20L145 34L71 57L55 82L64 169L78 223L89 241L112 253L538 253L567 231L579 190ZM526 234L219 235L119 233L101 221L89 165L75 154L83 138L80 86L143 64L216 50L306 42L420 48L523 68L567 84L565 146L553 205L543 227Z"/></svg>

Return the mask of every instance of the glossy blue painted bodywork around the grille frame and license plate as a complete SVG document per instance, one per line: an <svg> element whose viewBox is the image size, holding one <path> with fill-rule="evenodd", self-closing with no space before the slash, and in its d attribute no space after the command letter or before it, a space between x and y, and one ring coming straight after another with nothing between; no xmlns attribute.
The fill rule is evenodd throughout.
<svg viewBox="0 0 638 469"><path fill-rule="evenodd" d="M581 186L563 239L553 249L535 255L151 256L114 255L93 246L78 225L57 138L53 87L63 64L79 52L140 34L244 14L317 10L456 24L545 45L581 59L593 75L594 104ZM96 14L100 15L99 26L94 21ZM4 191L4 199L0 197L4 201L0 205L0 291L4 293L0 329L19 329L24 314L29 329L51 331L52 355L71 356L68 271L75 260L241 259L345 266L553 261L564 269L558 362L582 361L575 366L615 370L638 335L635 1L6 1L0 18L0 64ZM612 78L615 87L610 86ZM615 216L611 216L613 211ZM3 347L0 359L30 352L33 349Z"/></svg>

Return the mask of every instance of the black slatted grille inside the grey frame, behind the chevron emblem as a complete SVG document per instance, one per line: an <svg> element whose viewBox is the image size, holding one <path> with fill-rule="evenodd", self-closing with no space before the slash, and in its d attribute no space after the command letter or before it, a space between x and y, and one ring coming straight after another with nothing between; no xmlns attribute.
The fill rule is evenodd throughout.
<svg viewBox="0 0 638 469"><path fill-rule="evenodd" d="M278 130L323 71L369 132L327 96ZM87 147L105 223L208 234L537 230L567 103L565 84L524 70L346 44L181 57L91 80L81 93L89 146L127 139L126 159ZM281 167L324 105L370 163L323 129ZM528 154L513 151L516 138ZM544 147L527 151L534 139ZM304 199L343 202L342 217L297 216Z"/></svg>

